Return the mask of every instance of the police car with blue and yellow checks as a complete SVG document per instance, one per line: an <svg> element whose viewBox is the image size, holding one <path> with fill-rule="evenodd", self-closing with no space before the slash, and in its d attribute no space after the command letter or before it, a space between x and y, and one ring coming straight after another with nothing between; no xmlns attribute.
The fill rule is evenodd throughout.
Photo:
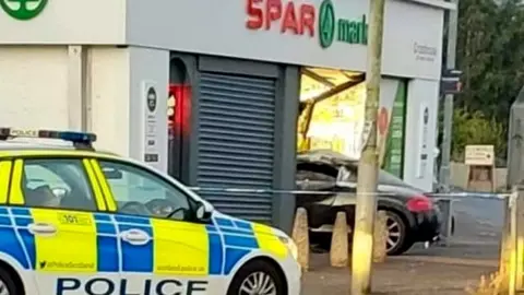
<svg viewBox="0 0 524 295"><path fill-rule="evenodd" d="M286 234L95 140L0 128L0 295L299 294Z"/></svg>

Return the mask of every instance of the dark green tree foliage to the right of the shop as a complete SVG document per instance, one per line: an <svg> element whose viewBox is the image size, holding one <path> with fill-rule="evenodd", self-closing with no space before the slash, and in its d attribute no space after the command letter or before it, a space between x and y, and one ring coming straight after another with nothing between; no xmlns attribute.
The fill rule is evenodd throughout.
<svg viewBox="0 0 524 295"><path fill-rule="evenodd" d="M479 142L495 144L498 156L505 154L501 142L508 138L510 107L524 85L521 2L460 0L456 58L463 71L463 93L455 99L453 155L460 155L464 144ZM473 129L480 126L475 125L493 128L490 132L495 133L479 134Z"/></svg>

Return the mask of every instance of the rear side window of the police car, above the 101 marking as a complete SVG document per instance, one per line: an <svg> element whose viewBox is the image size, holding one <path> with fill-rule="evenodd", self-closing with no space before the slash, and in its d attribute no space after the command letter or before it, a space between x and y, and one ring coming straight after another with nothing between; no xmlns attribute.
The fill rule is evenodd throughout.
<svg viewBox="0 0 524 295"><path fill-rule="evenodd" d="M96 210L82 160L24 160L21 186L27 206Z"/></svg>

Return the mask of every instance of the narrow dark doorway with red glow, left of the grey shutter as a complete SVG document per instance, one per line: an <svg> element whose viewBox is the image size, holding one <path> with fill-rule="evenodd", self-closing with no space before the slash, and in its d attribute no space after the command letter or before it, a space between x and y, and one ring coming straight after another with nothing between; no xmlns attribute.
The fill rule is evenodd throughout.
<svg viewBox="0 0 524 295"><path fill-rule="evenodd" d="M169 67L168 117L168 173L187 181L184 174L191 116L191 85L187 67L181 59L172 59Z"/></svg>

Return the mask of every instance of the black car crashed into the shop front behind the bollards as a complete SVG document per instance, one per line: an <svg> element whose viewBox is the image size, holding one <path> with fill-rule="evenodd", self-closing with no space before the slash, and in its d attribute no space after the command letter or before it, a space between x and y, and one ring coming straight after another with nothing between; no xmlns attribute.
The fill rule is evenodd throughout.
<svg viewBox="0 0 524 295"><path fill-rule="evenodd" d="M358 161L332 151L299 153L296 178L305 193L297 196L297 208L308 211L311 244L329 249L340 211L346 212L347 224L353 228L357 167ZM378 182L378 209L388 214L389 255L401 255L415 243L439 238L441 214L430 194L384 170L379 172Z"/></svg>

